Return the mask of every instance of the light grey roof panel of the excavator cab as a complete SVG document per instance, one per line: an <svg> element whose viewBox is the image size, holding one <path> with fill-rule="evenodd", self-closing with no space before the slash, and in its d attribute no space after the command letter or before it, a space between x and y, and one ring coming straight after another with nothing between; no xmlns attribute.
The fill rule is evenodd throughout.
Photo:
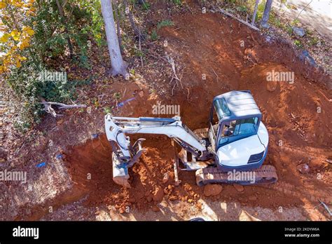
<svg viewBox="0 0 332 244"><path fill-rule="evenodd" d="M218 99L224 99L230 111L227 119L259 117L262 114L259 110L254 97L249 90L233 90L228 93L214 97L214 102ZM221 116L222 117L222 116Z"/></svg>

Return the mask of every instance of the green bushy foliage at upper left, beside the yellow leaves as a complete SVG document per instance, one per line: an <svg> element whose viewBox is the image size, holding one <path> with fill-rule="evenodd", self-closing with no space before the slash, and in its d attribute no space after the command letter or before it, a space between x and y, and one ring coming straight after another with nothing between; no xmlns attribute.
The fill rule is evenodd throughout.
<svg viewBox="0 0 332 244"><path fill-rule="evenodd" d="M77 86L90 83L90 80L61 82L39 79L39 74L44 70L61 72L61 63L57 70L48 64L59 58L63 60L70 57L68 40L73 48L72 61L86 69L91 69L89 50L92 44L99 47L106 45L99 0L60 0L60 3L64 18L56 1L38 1L38 4L34 3L35 14L18 16L21 26L32 27L34 31L29 46L19 53L20 57L26 57L25 62L11 67L5 77L18 104L19 118L15 127L21 132L40 122L43 114L41 97L52 102L69 102L76 99ZM4 16L3 19L4 25L11 26L11 18Z"/></svg>

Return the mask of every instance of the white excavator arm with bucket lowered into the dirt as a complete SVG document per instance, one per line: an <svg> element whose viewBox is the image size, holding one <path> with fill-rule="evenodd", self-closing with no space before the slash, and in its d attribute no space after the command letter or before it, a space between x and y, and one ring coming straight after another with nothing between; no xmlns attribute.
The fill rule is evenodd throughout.
<svg viewBox="0 0 332 244"><path fill-rule="evenodd" d="M156 134L167 135L172 138L185 151L190 152L195 158L205 160L208 153L205 140L189 130L181 121L181 118L128 118L105 116L105 130L107 140L111 142L113 149L113 180L125 187L130 187L128 168L139 159L144 149L140 138L134 144L130 143L130 137L126 134Z"/></svg>

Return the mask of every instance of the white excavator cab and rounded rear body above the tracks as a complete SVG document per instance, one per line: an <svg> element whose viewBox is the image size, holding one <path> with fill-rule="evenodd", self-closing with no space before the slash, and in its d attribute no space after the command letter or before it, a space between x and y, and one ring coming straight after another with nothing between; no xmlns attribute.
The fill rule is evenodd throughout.
<svg viewBox="0 0 332 244"><path fill-rule="evenodd" d="M220 170L260 168L268 151L268 130L250 91L214 97L209 116L209 141ZM216 118L218 121L216 121Z"/></svg>

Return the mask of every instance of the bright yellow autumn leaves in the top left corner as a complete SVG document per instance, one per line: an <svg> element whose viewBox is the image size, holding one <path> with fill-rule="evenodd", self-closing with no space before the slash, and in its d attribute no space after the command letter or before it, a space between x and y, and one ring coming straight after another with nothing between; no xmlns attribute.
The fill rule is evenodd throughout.
<svg viewBox="0 0 332 244"><path fill-rule="evenodd" d="M0 0L0 12L1 15L6 17L6 20L11 19L11 8L16 9L16 13L20 13L22 18L27 15L31 15L36 8L33 7L34 0L6 0L6 2ZM11 8L6 8L11 6ZM20 53L21 50L30 46L31 37L34 35L34 30L29 26L17 25L20 18L12 20L15 22L14 26L18 26L19 29L4 26L0 21L0 74L7 72L12 65L15 67L21 67L21 62L26 60Z"/></svg>

